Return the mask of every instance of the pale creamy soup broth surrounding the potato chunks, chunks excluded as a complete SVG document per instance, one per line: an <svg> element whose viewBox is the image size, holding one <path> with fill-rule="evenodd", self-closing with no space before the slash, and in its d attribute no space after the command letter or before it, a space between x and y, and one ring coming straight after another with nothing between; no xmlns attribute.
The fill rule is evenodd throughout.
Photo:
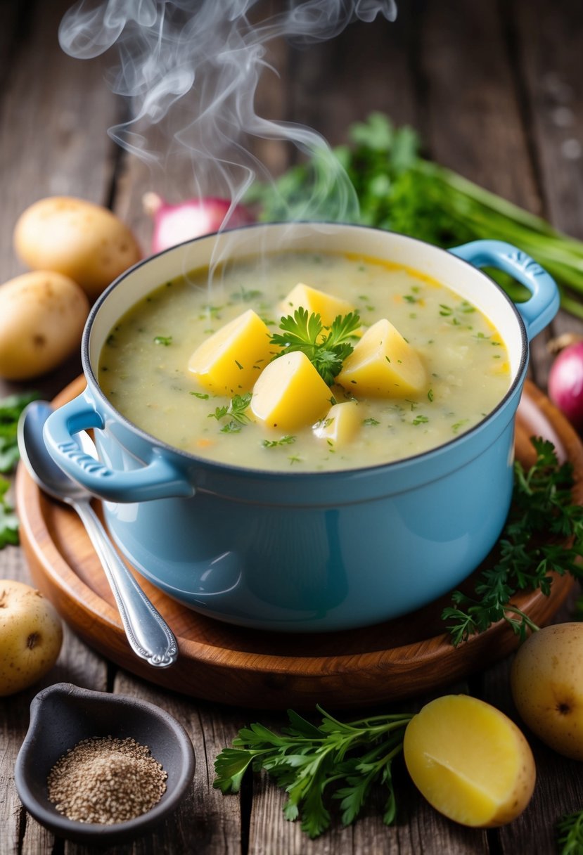
<svg viewBox="0 0 583 855"><path fill-rule="evenodd" d="M217 413L230 398L203 389L188 371L197 345L244 310L278 331L277 306L298 282L350 301L363 328L388 318L427 368L419 395L359 399L356 437L342 447L310 426L283 433L251 421L226 430L232 420ZM206 269L164 283L111 330L98 379L130 422L183 451L250 468L314 471L388 463L442 445L498 404L510 375L492 323L438 282L369 258L284 252L222 268L211 287ZM340 403L350 391L333 386L332 397Z"/></svg>

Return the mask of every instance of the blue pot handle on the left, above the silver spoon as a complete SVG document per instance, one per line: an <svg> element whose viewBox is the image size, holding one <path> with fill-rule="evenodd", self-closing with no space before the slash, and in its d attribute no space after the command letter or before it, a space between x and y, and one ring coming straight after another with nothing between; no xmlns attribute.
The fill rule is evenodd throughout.
<svg viewBox="0 0 583 855"><path fill-rule="evenodd" d="M110 502L140 502L152 498L193 496L194 486L168 457L154 450L149 463L139 469L109 469L81 451L74 433L103 428L103 417L91 397L82 392L77 398L52 412L44 422L43 438L50 457L74 481L98 498Z"/></svg>

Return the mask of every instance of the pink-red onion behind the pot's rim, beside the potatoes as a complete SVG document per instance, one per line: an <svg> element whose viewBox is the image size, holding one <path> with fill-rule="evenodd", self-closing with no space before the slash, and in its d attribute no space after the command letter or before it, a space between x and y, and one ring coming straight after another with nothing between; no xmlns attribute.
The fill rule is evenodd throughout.
<svg viewBox="0 0 583 855"><path fill-rule="evenodd" d="M228 199L195 198L172 205L157 193L146 193L142 203L144 210L154 218L152 252L167 250L183 240L218 232L220 228L244 226L253 221L244 205L235 205L228 221L225 221L231 208Z"/></svg>

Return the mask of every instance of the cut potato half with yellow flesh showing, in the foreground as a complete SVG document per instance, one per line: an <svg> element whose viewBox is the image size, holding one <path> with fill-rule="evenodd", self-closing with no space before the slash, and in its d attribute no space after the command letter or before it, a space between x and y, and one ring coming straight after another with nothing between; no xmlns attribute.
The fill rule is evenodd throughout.
<svg viewBox="0 0 583 855"><path fill-rule="evenodd" d="M469 695L425 705L407 726L403 753L430 805L462 825L510 823L533 794L536 769L527 740L508 716Z"/></svg>

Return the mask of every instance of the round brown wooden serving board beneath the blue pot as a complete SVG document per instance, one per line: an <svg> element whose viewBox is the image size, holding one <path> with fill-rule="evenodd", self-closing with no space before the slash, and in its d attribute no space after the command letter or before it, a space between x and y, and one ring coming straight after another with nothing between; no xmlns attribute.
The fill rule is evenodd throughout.
<svg viewBox="0 0 583 855"><path fill-rule="evenodd" d="M78 378L55 400L64 404L85 386ZM531 436L551 439L574 466L575 498L583 503L583 446L573 428L527 382L516 419L516 456L533 460ZM115 601L85 529L73 510L39 491L23 465L16 478L21 542L32 578L62 618L90 646L133 674L198 698L238 706L285 709L374 705L444 687L507 656L517 645L500 622L458 647L440 619L450 596L414 614L332 634L275 634L230 626L197 614L141 579L144 590L179 640L169 669L154 669L127 645ZM96 503L97 510L99 503ZM137 575L137 578L140 577ZM471 585L472 579L468 580ZM514 600L534 622L549 622L567 597L569 576L551 595L521 593Z"/></svg>

